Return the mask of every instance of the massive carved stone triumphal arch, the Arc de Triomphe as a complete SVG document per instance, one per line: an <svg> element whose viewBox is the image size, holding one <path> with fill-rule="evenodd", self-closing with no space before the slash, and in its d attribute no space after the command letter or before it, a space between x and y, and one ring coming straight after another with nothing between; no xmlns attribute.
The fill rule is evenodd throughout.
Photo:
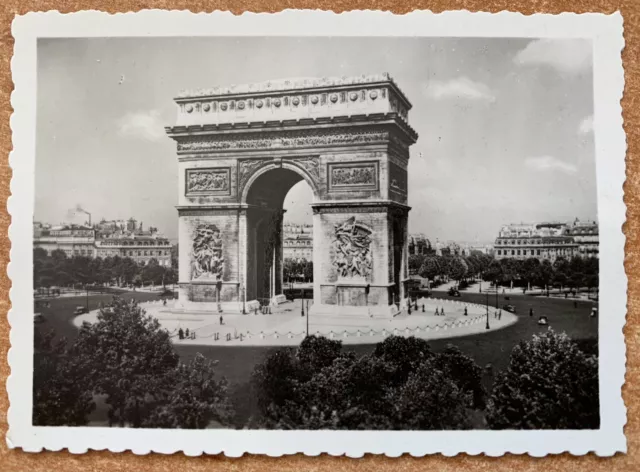
<svg viewBox="0 0 640 472"><path fill-rule="evenodd" d="M179 304L282 300L282 204L313 191L313 313L387 315L405 295L411 104L388 74L187 92L166 128L179 161Z"/></svg>

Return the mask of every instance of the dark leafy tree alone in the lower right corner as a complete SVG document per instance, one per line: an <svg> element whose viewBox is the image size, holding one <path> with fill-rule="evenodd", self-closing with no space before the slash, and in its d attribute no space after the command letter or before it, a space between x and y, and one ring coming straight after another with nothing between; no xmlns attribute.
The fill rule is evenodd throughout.
<svg viewBox="0 0 640 472"><path fill-rule="evenodd" d="M492 429L597 429L598 359L562 333L521 341L487 410Z"/></svg>

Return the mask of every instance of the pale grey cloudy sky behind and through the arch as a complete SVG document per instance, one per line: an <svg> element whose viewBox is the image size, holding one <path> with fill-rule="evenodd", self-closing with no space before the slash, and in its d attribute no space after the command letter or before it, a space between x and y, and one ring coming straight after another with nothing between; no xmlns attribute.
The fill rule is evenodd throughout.
<svg viewBox="0 0 640 472"><path fill-rule="evenodd" d="M40 39L34 219L135 217L177 237L182 89L388 72L413 108L409 231L596 219L591 43L476 38ZM311 222L305 182L286 217Z"/></svg>

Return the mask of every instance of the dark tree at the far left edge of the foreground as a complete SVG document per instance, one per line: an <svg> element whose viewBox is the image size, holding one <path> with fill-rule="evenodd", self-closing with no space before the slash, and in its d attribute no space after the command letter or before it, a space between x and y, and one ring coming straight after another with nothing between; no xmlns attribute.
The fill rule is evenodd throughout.
<svg viewBox="0 0 640 472"><path fill-rule="evenodd" d="M64 339L54 333L34 332L33 424L84 426L95 409L86 372L70 356Z"/></svg>

